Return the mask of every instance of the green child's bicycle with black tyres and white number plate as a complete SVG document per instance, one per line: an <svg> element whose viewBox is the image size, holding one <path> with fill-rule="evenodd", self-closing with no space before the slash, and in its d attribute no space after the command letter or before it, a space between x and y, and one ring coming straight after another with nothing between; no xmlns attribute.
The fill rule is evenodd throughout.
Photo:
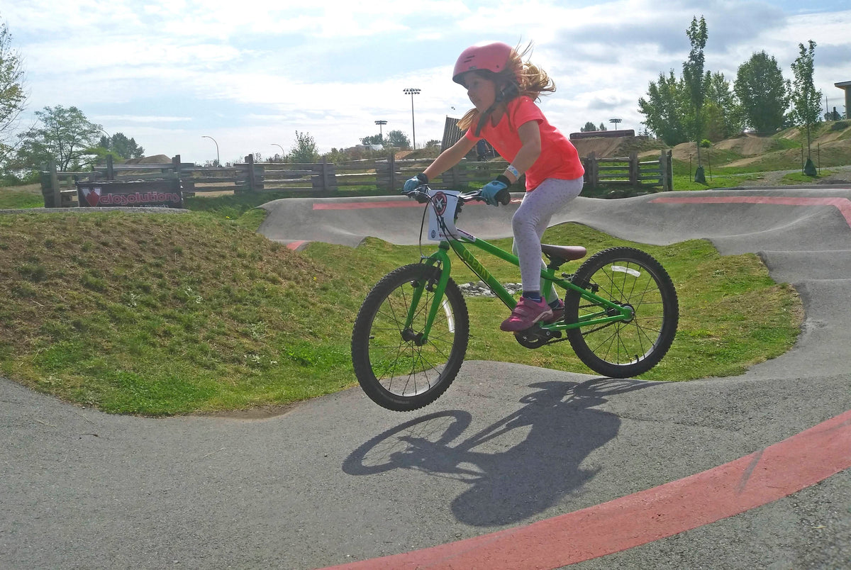
<svg viewBox="0 0 851 570"><path fill-rule="evenodd" d="M462 205L481 200L480 191L424 185L408 196L426 204L428 237L439 242L437 251L382 277L364 299L351 333L357 381L370 399L398 412L437 400L464 362L470 319L449 275L450 250L510 310L517 304L467 247L514 265L517 256L455 227ZM499 198L511 201L507 190ZM549 261L540 273L542 290L563 289L564 316L515 333L518 343L534 349L568 340L588 368L609 378L631 378L660 362L677 333L679 309L671 277L656 259L636 248L609 248L568 275L557 272L584 258L585 248L544 244L541 250Z"/></svg>

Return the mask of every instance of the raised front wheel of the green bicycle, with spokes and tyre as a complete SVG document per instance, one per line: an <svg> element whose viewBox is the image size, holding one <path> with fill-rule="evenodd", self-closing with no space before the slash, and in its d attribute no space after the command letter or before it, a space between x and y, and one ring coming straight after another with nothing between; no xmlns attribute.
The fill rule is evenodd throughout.
<svg viewBox="0 0 851 570"><path fill-rule="evenodd" d="M375 285L357 313L351 362L363 391L384 408L407 412L434 402L452 384L464 362L470 318L464 297L451 278L423 342L440 275L431 265L404 265ZM422 294L414 306L414 320L406 327L419 289Z"/></svg>

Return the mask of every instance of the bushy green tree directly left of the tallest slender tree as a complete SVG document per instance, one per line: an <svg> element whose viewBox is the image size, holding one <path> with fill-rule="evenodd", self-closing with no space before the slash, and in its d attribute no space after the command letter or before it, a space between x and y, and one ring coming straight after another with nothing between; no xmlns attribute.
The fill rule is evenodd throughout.
<svg viewBox="0 0 851 570"><path fill-rule="evenodd" d="M643 124L656 134L665 145L679 145L688 140L688 90L683 79L674 77L674 70L659 82L650 82L647 99L638 100L638 112L643 114Z"/></svg>

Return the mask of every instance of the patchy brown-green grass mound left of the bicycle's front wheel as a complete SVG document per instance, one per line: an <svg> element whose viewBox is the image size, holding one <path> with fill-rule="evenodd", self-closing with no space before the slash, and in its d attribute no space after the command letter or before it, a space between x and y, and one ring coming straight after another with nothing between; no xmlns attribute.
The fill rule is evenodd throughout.
<svg viewBox="0 0 851 570"><path fill-rule="evenodd" d="M210 216L2 216L0 369L115 413L318 396L351 384L312 381L347 361L315 350L327 287L323 266Z"/></svg>

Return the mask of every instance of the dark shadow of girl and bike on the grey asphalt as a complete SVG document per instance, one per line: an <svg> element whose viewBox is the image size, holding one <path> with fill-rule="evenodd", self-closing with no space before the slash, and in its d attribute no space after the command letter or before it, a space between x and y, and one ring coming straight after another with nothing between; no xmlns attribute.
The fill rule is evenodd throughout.
<svg viewBox="0 0 851 570"><path fill-rule="evenodd" d="M353 476L408 469L469 487L452 500L459 522L492 527L521 522L574 493L599 469L582 462L620 429L615 413L594 409L608 398L660 385L631 379L545 381L529 385L523 407L456 442L473 417L427 413L374 436L343 462ZM523 437L525 434L525 437Z"/></svg>

